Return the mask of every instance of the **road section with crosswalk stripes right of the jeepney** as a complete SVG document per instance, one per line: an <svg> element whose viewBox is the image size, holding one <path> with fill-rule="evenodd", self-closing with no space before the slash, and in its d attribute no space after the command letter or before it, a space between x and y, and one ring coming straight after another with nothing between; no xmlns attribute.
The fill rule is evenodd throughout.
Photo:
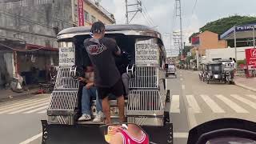
<svg viewBox="0 0 256 144"><path fill-rule="evenodd" d="M243 118L256 121L256 93L235 85L206 84L197 71L179 70L178 78L169 78L170 117L174 123L175 143L186 143L194 126L217 118ZM181 138L183 137L183 138Z"/></svg>

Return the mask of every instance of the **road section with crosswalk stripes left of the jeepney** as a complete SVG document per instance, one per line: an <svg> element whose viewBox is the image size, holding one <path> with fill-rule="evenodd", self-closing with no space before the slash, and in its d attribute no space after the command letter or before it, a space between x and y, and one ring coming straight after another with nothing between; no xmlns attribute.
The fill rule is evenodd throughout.
<svg viewBox="0 0 256 144"><path fill-rule="evenodd" d="M0 102L0 143L18 144L40 134L40 120L46 119L49 98L49 94L43 94Z"/></svg>

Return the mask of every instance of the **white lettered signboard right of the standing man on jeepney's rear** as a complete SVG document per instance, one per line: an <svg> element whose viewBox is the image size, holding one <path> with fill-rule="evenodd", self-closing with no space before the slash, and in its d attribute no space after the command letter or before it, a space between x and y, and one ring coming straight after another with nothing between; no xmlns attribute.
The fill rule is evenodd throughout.
<svg viewBox="0 0 256 144"><path fill-rule="evenodd" d="M137 66L158 66L158 44L137 42L135 45L135 64Z"/></svg>

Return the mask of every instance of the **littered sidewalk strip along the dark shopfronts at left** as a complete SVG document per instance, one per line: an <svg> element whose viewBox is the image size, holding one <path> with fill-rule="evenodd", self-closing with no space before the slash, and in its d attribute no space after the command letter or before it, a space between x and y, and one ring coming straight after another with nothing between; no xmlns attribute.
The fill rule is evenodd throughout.
<svg viewBox="0 0 256 144"><path fill-rule="evenodd" d="M0 99L2 98L17 98L22 96L27 96L30 94L34 94L38 91L38 88L32 88L27 91L23 91L22 93L16 93L12 90L0 89Z"/></svg>

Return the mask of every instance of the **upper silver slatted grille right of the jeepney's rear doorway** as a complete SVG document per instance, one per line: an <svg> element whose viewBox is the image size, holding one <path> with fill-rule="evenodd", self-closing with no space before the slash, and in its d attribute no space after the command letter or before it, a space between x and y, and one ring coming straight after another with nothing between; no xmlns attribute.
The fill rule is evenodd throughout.
<svg viewBox="0 0 256 144"><path fill-rule="evenodd" d="M130 88L158 88L158 67L135 67L134 78L130 78Z"/></svg>

